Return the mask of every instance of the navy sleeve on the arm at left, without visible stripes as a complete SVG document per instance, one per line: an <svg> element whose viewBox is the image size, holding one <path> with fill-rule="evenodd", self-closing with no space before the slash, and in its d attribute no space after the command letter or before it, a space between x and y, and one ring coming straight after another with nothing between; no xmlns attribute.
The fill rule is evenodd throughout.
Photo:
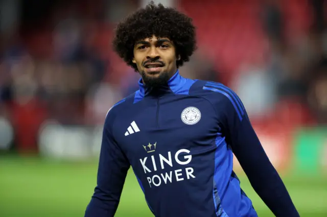
<svg viewBox="0 0 327 217"><path fill-rule="evenodd" d="M130 167L127 157L113 138L107 115L99 159L97 186L85 217L112 217L118 208L125 178Z"/></svg>

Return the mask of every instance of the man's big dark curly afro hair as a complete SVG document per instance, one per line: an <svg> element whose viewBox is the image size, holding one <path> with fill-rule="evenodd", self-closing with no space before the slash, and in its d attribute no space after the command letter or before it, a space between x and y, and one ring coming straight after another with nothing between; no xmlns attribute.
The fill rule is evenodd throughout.
<svg viewBox="0 0 327 217"><path fill-rule="evenodd" d="M152 36L167 37L173 41L176 55L180 57L176 61L177 68L188 62L196 49L192 19L174 8L166 8L162 4L156 6L153 1L116 26L113 49L137 71L136 64L132 62L134 44Z"/></svg>

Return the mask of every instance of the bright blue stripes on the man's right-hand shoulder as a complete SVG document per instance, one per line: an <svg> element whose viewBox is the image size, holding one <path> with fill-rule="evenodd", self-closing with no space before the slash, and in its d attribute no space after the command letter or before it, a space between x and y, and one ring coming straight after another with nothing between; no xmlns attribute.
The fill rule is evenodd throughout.
<svg viewBox="0 0 327 217"><path fill-rule="evenodd" d="M237 112L240 121L242 121L245 108L241 99L237 96L235 92L233 92L231 89L227 88L223 84L219 84L215 82L207 82L204 85L203 90L211 90L225 95L230 100L233 107L235 108L235 111Z"/></svg>

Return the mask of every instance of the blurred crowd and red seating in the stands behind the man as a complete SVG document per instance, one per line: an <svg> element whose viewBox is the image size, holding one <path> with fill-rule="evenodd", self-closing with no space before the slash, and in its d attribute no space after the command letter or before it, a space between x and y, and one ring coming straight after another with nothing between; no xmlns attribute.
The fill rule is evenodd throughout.
<svg viewBox="0 0 327 217"><path fill-rule="evenodd" d="M140 2L1 4L7 13L1 15L0 117L12 126L12 147L37 150L46 120L101 125L116 101L137 90L139 75L113 53L110 42L115 23ZM198 29L199 48L180 73L235 90L253 123L324 125L326 5L323 0L176 1ZM220 12L212 15L213 8Z"/></svg>

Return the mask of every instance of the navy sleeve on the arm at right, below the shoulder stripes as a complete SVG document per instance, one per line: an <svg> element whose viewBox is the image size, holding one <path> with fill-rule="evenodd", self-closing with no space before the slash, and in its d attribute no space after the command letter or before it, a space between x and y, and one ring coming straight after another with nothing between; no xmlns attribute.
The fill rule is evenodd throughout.
<svg viewBox="0 0 327 217"><path fill-rule="evenodd" d="M291 197L277 171L266 155L245 111L233 93L233 99L224 97L223 130L246 173L254 191L275 216L299 216Z"/></svg>

